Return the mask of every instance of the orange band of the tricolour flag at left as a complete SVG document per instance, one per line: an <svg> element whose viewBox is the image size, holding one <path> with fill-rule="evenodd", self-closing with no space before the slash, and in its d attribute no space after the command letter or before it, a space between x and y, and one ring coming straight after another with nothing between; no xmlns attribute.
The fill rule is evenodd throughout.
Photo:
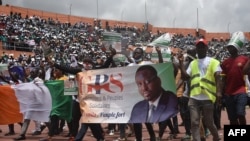
<svg viewBox="0 0 250 141"><path fill-rule="evenodd" d="M10 86L0 86L0 125L22 122L19 102Z"/></svg>

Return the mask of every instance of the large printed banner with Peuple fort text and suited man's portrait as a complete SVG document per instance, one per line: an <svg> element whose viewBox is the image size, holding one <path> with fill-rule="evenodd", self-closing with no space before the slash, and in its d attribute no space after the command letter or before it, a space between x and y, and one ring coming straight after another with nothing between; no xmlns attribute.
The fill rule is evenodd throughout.
<svg viewBox="0 0 250 141"><path fill-rule="evenodd" d="M172 63L147 65L156 70L155 75L141 82L135 82L138 66L89 70L78 73L79 102L83 123L143 123L147 122L150 92L139 91L139 87L159 92L158 118L153 122L166 120L177 114L177 98ZM147 67L146 67L147 68ZM137 76L138 79L140 76ZM159 79L158 79L159 78ZM155 83L155 84L154 84ZM151 88L149 88L151 87ZM153 90L156 88L156 90ZM146 90L145 90L146 91ZM153 93L156 94L156 93ZM164 99L164 100L162 100ZM163 105L161 105L163 104ZM139 111L136 106L139 105ZM138 109L138 108L137 108ZM135 114L133 114L135 112ZM131 117L131 115L138 118Z"/></svg>

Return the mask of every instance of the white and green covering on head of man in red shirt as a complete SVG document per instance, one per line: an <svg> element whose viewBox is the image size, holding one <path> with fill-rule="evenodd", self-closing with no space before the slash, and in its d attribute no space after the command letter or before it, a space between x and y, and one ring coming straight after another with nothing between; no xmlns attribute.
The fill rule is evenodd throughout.
<svg viewBox="0 0 250 141"><path fill-rule="evenodd" d="M234 32L231 39L229 40L227 47L228 46L233 46L237 50L243 47L245 41L245 35L241 31Z"/></svg>

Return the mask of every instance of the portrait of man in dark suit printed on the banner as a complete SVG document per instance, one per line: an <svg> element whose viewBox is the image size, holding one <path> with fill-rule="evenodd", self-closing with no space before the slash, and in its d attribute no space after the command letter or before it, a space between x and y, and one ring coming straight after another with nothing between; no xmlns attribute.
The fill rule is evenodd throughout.
<svg viewBox="0 0 250 141"><path fill-rule="evenodd" d="M135 81L144 100L134 105L130 123L158 123L178 113L176 95L161 87L161 79L153 66L139 67L135 74Z"/></svg>

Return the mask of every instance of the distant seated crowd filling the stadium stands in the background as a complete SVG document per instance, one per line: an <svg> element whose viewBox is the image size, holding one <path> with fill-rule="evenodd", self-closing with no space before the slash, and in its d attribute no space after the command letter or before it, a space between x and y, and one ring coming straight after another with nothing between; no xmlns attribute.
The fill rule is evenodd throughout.
<svg viewBox="0 0 250 141"><path fill-rule="evenodd" d="M39 55L47 45L55 52L54 57L58 61L67 61L73 54L78 56L79 61L82 61L86 55L96 61L96 58L106 55L100 42L104 32L121 33L123 39L128 39L122 43L124 47L137 43L147 45L164 34L160 31L151 33L144 27L104 26L100 20L96 20L94 23L79 22L71 25L70 23L60 23L55 19L42 19L35 15L22 18L19 13L1 15L0 25L0 40L3 43L3 49L33 51L34 56L31 57L35 60L42 59ZM170 46L184 49L188 45L194 45L197 38L199 37L191 34L187 36L173 34ZM228 53L224 51L228 41L229 39L223 38L209 41L209 56L215 56L219 60L228 57ZM249 41L246 41L245 46L245 50L241 53L248 53Z"/></svg>

